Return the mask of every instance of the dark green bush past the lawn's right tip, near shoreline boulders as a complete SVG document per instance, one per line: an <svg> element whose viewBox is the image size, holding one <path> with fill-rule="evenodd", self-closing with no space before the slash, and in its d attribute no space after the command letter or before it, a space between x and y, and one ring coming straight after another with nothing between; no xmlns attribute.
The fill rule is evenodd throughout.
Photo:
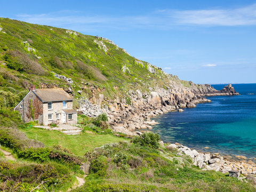
<svg viewBox="0 0 256 192"><path fill-rule="evenodd" d="M140 136L134 137L132 142L140 146L157 149L159 148L159 140L160 137L157 133L145 132Z"/></svg>

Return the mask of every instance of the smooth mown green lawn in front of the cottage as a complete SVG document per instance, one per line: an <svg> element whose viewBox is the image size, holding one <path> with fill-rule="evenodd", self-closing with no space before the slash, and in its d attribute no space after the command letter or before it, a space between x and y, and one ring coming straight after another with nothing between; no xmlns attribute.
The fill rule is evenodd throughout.
<svg viewBox="0 0 256 192"><path fill-rule="evenodd" d="M127 141L127 139L115 137L110 134L101 135L93 132L85 132L79 135L66 135L59 131L44 130L36 127L21 129L21 131L25 132L29 139L35 139L37 134L37 141L43 142L44 145L49 147L61 145L78 156L83 156L86 151L100 147L105 143Z"/></svg>

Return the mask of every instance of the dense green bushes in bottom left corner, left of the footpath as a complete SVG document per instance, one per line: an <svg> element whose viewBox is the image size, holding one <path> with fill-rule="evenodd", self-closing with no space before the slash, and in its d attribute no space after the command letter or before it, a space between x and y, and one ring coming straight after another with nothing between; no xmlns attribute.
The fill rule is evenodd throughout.
<svg viewBox="0 0 256 192"><path fill-rule="evenodd" d="M45 182L44 187L52 191L52 187L61 187L71 179L67 167L56 163L29 165L0 162L0 171L1 183L5 183L0 184L1 191L32 191L42 181ZM40 189L37 191L44 191Z"/></svg>

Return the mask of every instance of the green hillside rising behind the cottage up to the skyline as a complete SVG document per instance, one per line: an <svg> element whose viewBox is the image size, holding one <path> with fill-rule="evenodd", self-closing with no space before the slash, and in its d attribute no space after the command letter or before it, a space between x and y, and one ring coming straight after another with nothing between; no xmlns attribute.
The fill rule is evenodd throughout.
<svg viewBox="0 0 256 192"><path fill-rule="evenodd" d="M113 95L124 97L130 89L165 87L166 75L161 70L107 39L4 18L0 18L0 28L0 90L16 94L35 84L70 87L76 93L88 82L111 100ZM52 72L71 78L73 84L55 78ZM86 89L82 93L90 94Z"/></svg>

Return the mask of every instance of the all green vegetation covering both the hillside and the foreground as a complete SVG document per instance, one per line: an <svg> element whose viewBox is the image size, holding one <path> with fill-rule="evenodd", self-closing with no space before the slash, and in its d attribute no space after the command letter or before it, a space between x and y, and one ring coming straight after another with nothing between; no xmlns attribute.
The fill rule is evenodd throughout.
<svg viewBox="0 0 256 192"><path fill-rule="evenodd" d="M119 97L127 105L132 102L129 90L147 92L156 84L167 89L170 78L190 84L177 76L167 78L157 68L151 74L147 62L93 36L4 18L0 26L5 32L0 33L0 145L17 159L7 161L0 153L0 191L67 191L75 176L83 174L82 163L91 165L90 174L73 191L256 191L250 181L202 171L188 156L159 148L157 134L143 133L131 140L115 137L106 114L79 116L79 135L38 129L33 127L36 122L23 124L13 108L30 84L70 88L75 103L79 97L97 98L101 93L106 100ZM130 73L123 73L123 66ZM72 78L73 84L52 72ZM78 90L83 90L81 95ZM35 115L31 110L31 117Z"/></svg>

